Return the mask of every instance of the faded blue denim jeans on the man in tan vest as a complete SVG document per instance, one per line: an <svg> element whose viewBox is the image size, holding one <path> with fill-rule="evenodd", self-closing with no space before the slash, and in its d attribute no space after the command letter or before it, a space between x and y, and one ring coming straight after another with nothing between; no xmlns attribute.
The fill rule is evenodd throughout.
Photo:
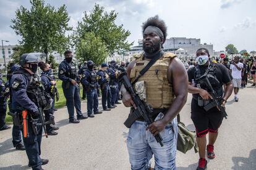
<svg viewBox="0 0 256 170"><path fill-rule="evenodd" d="M127 148L131 169L146 170L150 159L155 156L155 170L176 169L175 158L177 148L177 119L168 124L162 132L164 146L156 142L150 131L146 131L147 123L135 121L129 129Z"/></svg>

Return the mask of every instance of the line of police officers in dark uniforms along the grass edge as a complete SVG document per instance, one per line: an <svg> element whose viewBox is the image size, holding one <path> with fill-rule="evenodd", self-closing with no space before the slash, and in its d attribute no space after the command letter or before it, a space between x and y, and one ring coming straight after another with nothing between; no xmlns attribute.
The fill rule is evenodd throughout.
<svg viewBox="0 0 256 170"><path fill-rule="evenodd" d="M20 56L20 66L11 64L5 83L0 76L0 131L10 129L5 124L7 98L9 115L13 117L12 142L17 150L25 150L28 156L28 166L32 169L42 169L41 165L48 160L40 157L41 138L43 126L46 137L54 136L59 127L54 126L54 100L59 99L56 81L52 75L51 66L48 63L39 62L41 54L30 53ZM103 110L109 111L116 107L119 98L119 84L117 76L125 71L126 63L121 67L111 61L109 68L106 63L101 64L96 73L95 64L90 60L85 62L79 73L72 62L72 52L64 53L65 59L59 65L58 77L62 80L62 90L66 97L66 105L69 113L69 123L79 123L79 119L94 117L102 113L98 110L98 91L101 89ZM36 74L38 66L41 69L41 78ZM82 113L79 94L79 86L83 86L83 99L87 96L87 113ZM74 117L74 107L77 118ZM41 111L41 112L40 112ZM25 114L27 113L27 115ZM44 113L44 115L43 115ZM23 142L22 142L23 136Z"/></svg>

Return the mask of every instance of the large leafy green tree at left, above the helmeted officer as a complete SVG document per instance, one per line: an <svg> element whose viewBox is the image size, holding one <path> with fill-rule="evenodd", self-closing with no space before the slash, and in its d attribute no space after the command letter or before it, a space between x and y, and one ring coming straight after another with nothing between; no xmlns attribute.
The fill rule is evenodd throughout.
<svg viewBox="0 0 256 170"><path fill-rule="evenodd" d="M19 41L25 52L64 52L69 39L66 31L72 30L68 26L69 14L63 5L57 10L43 0L30 0L30 10L21 6L15 11L15 18L11 20L11 28L22 37Z"/></svg>

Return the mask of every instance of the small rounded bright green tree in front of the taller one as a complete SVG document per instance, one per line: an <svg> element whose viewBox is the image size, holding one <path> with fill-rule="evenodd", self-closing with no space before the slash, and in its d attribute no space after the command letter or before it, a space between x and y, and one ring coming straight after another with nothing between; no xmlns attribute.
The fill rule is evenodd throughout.
<svg viewBox="0 0 256 170"><path fill-rule="evenodd" d="M95 33L86 33L80 38L76 48L76 57L80 63L93 60L96 65L100 65L108 56L105 44Z"/></svg>

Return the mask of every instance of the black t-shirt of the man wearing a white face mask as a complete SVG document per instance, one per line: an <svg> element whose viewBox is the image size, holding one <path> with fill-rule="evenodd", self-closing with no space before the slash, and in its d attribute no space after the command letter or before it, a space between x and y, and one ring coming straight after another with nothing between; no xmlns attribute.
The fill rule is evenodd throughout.
<svg viewBox="0 0 256 170"><path fill-rule="evenodd" d="M226 68L223 64L215 63L214 65L215 65L215 69L214 69L215 76L221 84L227 84L229 83L229 81L233 79L228 68ZM205 73L205 71L208 69L208 66L205 67L205 66L198 65L198 69L202 71L201 74L203 75L203 73ZM189 76L189 82L192 84L195 82L195 76L196 76L195 70L196 70L195 67L189 68L189 70L187 70L187 75ZM197 98L198 94L193 94L193 97Z"/></svg>

